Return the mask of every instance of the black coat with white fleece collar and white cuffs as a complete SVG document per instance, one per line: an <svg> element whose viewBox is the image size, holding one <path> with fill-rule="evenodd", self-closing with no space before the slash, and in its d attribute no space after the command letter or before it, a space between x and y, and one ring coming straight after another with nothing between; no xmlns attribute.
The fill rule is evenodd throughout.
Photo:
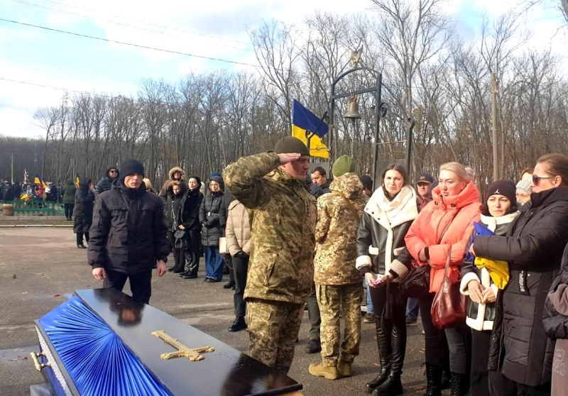
<svg viewBox="0 0 568 396"><path fill-rule="evenodd" d="M391 273L393 282L400 282L412 261L404 238L418 216L414 189L405 186L388 201L384 189L378 188L364 211L357 231L356 268L363 275Z"/></svg>

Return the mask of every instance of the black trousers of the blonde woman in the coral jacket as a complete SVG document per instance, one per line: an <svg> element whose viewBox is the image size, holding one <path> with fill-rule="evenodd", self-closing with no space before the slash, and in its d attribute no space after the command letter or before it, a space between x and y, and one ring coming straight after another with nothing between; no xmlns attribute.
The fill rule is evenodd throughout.
<svg viewBox="0 0 568 396"><path fill-rule="evenodd" d="M434 293L420 299L420 317L425 333L426 363L444 366L444 334L449 348L449 368L452 373L467 374L469 327L440 330L432 324L432 301Z"/></svg>

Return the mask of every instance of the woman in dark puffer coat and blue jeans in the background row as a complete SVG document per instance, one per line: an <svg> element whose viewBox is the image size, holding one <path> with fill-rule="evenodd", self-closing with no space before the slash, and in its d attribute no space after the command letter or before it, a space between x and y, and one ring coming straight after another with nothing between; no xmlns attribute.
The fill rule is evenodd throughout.
<svg viewBox="0 0 568 396"><path fill-rule="evenodd" d="M226 209L223 199L225 189L222 177L209 180L209 194L200 207L201 243L205 249L205 280L221 282L224 261L219 255L219 238L224 235Z"/></svg>

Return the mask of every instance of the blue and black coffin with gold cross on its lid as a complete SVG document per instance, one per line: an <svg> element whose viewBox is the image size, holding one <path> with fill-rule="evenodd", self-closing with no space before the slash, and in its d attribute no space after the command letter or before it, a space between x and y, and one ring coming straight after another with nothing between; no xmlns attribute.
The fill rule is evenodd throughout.
<svg viewBox="0 0 568 396"><path fill-rule="evenodd" d="M285 395L302 385L114 289L78 290L35 321L51 395Z"/></svg>

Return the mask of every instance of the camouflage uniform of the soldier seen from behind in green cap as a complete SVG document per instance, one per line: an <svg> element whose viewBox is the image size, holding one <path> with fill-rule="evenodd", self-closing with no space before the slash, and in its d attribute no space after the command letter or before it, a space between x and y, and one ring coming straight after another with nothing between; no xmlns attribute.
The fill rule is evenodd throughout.
<svg viewBox="0 0 568 396"><path fill-rule="evenodd" d="M345 321L341 360L351 364L355 356L359 355L363 294L361 273L355 268L359 221L344 197L351 201L359 218L363 215L368 197L363 194L363 185L354 173L336 177L330 189L331 194L324 194L317 199L314 280L322 314L322 363L325 366L337 366L341 342L340 312Z"/></svg>

